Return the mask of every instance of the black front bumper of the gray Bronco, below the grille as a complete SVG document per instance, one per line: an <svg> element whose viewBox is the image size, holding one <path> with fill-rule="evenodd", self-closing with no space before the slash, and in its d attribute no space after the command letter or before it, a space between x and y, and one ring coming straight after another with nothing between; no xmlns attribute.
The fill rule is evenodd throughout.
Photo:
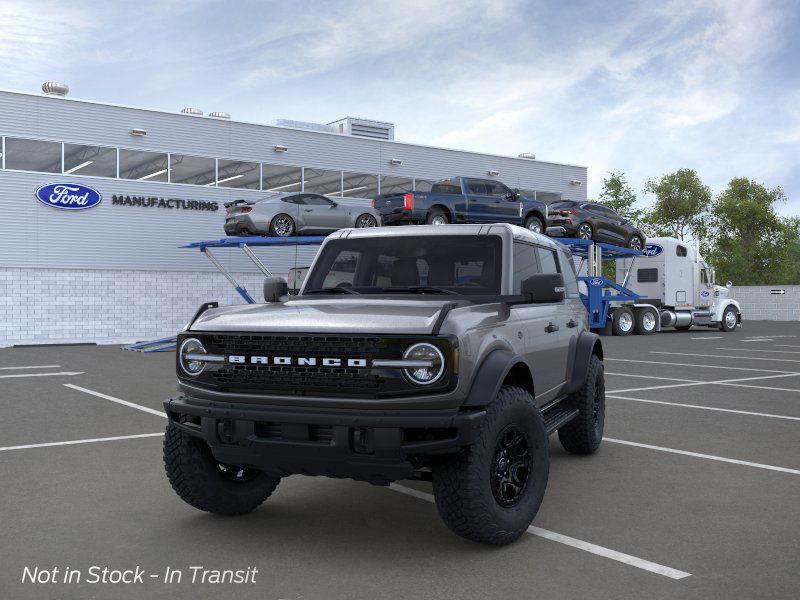
<svg viewBox="0 0 800 600"><path fill-rule="evenodd" d="M170 424L203 439L219 462L277 476L408 479L421 457L471 444L486 412L287 409L186 397L166 400Z"/></svg>

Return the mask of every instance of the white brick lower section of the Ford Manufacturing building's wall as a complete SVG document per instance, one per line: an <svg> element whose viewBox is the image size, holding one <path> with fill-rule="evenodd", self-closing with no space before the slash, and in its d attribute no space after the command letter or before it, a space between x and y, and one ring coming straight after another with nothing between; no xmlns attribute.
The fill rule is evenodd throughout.
<svg viewBox="0 0 800 600"><path fill-rule="evenodd" d="M262 298L263 276L234 275ZM0 347L168 337L213 301L243 303L218 273L0 269Z"/></svg>

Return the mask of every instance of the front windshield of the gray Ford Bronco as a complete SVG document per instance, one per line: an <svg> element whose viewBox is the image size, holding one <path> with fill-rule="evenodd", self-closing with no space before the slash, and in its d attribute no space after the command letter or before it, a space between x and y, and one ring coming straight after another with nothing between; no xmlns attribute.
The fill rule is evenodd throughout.
<svg viewBox="0 0 800 600"><path fill-rule="evenodd" d="M497 295L502 260L495 235L334 240L321 250L303 293Z"/></svg>

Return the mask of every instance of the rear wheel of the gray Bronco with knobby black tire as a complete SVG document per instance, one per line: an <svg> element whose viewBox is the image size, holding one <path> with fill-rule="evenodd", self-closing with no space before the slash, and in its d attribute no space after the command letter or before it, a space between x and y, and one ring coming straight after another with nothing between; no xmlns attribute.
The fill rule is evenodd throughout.
<svg viewBox="0 0 800 600"><path fill-rule="evenodd" d="M606 413L606 384L603 362L594 354L589 359L586 379L566 402L578 409L578 416L558 430L558 439L567 452L592 454L603 441Z"/></svg>

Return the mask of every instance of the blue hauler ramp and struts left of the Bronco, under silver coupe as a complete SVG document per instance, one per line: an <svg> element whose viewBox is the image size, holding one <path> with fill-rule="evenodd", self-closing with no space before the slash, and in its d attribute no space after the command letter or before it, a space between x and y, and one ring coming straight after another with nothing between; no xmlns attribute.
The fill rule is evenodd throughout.
<svg viewBox="0 0 800 600"><path fill-rule="evenodd" d="M181 248L199 248L200 252L206 255L208 260L211 261L217 270L222 273L225 278L234 287L236 292L248 304L255 304L256 301L250 295L250 292L241 285L236 278L219 262L212 248L240 248L247 257L253 261L256 268L267 277L272 277L272 271L256 256L251 250L251 247L258 246L318 246L325 240L325 236L293 236L293 237L261 237L261 236L243 236L243 237L224 237L218 240L206 240L201 242L192 242ZM144 342L137 342L128 346L123 346L125 350L133 350L136 352L164 352L165 350L173 350L175 348L175 337L160 338L157 340L149 340Z"/></svg>

